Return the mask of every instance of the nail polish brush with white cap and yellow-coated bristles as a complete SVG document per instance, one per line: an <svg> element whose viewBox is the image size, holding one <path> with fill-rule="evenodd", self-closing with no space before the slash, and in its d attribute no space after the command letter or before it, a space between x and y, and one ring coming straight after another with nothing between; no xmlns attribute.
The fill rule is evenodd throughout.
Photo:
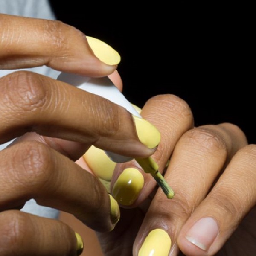
<svg viewBox="0 0 256 256"><path fill-rule="evenodd" d="M118 88L107 76L101 78L91 78L70 73L61 73L58 76L58 80L76 86L89 93L102 96L103 98L122 106L134 116L142 118L137 110L131 105L131 103L125 98L125 96L118 90ZM130 157L121 156L113 152L108 151L106 153L116 163L123 163L131 160ZM174 191L166 182L163 175L161 175L159 172L158 165L152 157L136 158L135 160L143 168L144 172L149 173L152 177L154 177L157 184L161 187L167 198L171 199L174 197Z"/></svg>

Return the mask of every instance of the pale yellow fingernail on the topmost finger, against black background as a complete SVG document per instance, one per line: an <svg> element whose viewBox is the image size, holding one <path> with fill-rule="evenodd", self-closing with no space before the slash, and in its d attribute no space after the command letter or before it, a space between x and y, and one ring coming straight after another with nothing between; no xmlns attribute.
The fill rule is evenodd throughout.
<svg viewBox="0 0 256 256"><path fill-rule="evenodd" d="M93 38L90 36L87 36L86 38L94 54L97 58L99 58L100 61L108 65L119 64L121 57L119 53L114 50L110 45L97 38Z"/></svg>

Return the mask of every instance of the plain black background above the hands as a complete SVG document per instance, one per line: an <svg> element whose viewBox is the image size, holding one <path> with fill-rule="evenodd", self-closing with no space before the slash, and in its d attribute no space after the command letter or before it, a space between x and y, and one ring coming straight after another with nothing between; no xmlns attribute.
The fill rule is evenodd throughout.
<svg viewBox="0 0 256 256"><path fill-rule="evenodd" d="M251 7L173 2L52 1L52 8L58 20L120 53L132 103L173 93L188 102L196 126L232 122L256 143Z"/></svg>

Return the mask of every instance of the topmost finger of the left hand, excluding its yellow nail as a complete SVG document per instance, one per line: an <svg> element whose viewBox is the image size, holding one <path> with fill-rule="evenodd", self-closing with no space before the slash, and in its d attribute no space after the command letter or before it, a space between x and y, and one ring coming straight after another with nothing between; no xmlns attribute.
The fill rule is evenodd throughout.
<svg viewBox="0 0 256 256"><path fill-rule="evenodd" d="M87 76L106 76L116 69L100 61L86 36L54 20L0 14L0 68L47 65Z"/></svg>

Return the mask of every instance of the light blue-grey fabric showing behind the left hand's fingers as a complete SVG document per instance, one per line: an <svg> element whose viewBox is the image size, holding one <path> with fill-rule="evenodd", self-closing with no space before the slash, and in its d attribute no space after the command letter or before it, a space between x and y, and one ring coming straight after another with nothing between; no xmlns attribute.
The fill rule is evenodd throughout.
<svg viewBox="0 0 256 256"><path fill-rule="evenodd" d="M48 0L0 0L0 13L55 20L55 16L50 8ZM57 78L58 74L60 73L59 71L52 70L46 66L24 70L40 73L54 79ZM15 70L0 70L0 77L14 71ZM5 148L11 142L12 141L0 145L0 150ZM34 199L27 201L21 210L23 212L29 212L31 214L46 218L58 218L59 215L58 210L40 206Z"/></svg>

